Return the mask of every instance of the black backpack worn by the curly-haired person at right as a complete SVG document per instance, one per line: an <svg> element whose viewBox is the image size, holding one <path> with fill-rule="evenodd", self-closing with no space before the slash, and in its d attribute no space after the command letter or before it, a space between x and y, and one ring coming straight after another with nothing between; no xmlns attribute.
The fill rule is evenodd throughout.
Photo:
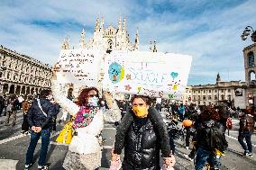
<svg viewBox="0 0 256 170"><path fill-rule="evenodd" d="M201 127L203 138L206 140L206 145L214 150L215 148L220 151L225 151L228 143L224 137L224 127L221 123L216 121L206 121Z"/></svg>

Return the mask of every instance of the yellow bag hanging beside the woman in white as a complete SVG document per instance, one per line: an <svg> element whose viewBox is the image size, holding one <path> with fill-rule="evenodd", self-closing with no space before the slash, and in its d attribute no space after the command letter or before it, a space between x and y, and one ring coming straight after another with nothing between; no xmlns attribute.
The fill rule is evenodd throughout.
<svg viewBox="0 0 256 170"><path fill-rule="evenodd" d="M72 124L74 117L68 121L63 129L60 131L58 138L56 139L56 142L58 143L63 143L63 144L70 144L71 139L73 138L73 129L72 129Z"/></svg>

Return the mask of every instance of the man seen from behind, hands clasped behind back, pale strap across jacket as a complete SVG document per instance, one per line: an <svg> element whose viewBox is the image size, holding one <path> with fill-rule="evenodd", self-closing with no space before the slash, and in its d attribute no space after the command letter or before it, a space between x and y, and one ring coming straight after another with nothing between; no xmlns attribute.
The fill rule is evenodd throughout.
<svg viewBox="0 0 256 170"><path fill-rule="evenodd" d="M42 90L39 99L35 99L27 114L27 120L31 127L31 141L26 153L25 169L32 166L33 153L38 140L41 138L41 152L38 160L38 169L47 170L46 164L48 146L50 144L50 131L52 117L59 113L59 105L50 103L51 90Z"/></svg>

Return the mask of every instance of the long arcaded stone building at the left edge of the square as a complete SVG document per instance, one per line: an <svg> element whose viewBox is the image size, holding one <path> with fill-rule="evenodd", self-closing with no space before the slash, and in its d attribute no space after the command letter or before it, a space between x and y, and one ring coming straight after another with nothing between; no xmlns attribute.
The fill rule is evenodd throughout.
<svg viewBox="0 0 256 170"><path fill-rule="evenodd" d="M49 65L0 46L0 94L38 94L51 77Z"/></svg>

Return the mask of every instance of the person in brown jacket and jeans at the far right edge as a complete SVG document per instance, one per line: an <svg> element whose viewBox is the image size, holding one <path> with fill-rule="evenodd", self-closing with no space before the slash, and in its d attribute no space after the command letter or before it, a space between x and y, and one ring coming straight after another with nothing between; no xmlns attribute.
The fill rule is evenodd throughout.
<svg viewBox="0 0 256 170"><path fill-rule="evenodd" d="M238 141L241 144L244 153L243 156L251 156L252 157L252 145L251 145L251 134L254 130L254 121L253 121L253 113L254 110L245 110L244 114L240 118L240 128L239 128L239 135L238 135ZM246 144L244 143L244 140L246 141Z"/></svg>

